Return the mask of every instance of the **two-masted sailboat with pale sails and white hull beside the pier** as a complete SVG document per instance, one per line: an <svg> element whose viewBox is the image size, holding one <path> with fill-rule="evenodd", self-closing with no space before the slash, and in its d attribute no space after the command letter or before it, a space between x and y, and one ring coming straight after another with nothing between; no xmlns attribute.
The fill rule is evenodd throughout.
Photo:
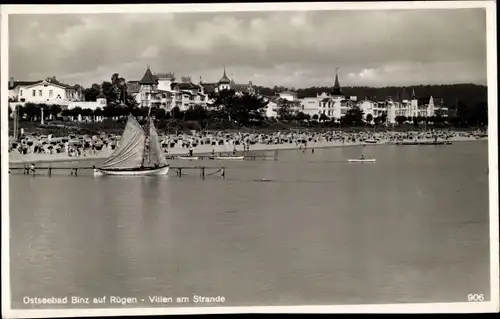
<svg viewBox="0 0 500 319"><path fill-rule="evenodd" d="M167 163L151 116L148 116L148 134L136 118L130 114L127 125L113 154L99 168L94 176L158 176L167 175Z"/></svg>

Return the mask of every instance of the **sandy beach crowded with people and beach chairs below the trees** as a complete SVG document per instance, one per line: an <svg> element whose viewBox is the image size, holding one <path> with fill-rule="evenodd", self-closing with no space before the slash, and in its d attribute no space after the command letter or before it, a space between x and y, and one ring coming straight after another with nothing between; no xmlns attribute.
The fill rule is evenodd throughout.
<svg viewBox="0 0 500 319"><path fill-rule="evenodd" d="M269 149L294 149L364 143L387 144L405 141L457 141L486 138L485 130L475 131L383 131L383 132L274 132L274 133L227 133L227 132L191 132L185 134L162 135L160 143L163 151L169 154L210 153L210 152L245 152ZM37 155L78 157L107 157L119 144L119 135L69 135L53 137L51 135L23 135L18 141L10 140L9 153L15 158Z"/></svg>

